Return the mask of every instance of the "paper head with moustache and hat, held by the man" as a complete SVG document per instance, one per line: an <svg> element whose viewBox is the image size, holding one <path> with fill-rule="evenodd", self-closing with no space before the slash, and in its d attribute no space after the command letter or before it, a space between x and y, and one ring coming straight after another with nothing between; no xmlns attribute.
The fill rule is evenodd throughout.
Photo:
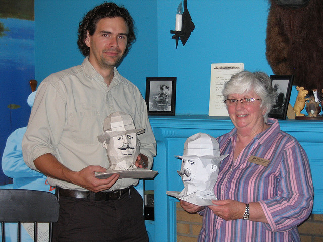
<svg viewBox="0 0 323 242"><path fill-rule="evenodd" d="M114 112L104 119L104 133L97 136L106 149L109 169L131 170L140 154L139 134L144 128L136 129L132 117L124 112Z"/></svg>

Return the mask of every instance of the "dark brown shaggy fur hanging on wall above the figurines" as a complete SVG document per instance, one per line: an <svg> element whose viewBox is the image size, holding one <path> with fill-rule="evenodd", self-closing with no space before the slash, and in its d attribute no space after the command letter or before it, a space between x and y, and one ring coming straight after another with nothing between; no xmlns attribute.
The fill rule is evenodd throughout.
<svg viewBox="0 0 323 242"><path fill-rule="evenodd" d="M323 87L323 0L283 9L270 0L266 56L275 75L294 75L306 90Z"/></svg>

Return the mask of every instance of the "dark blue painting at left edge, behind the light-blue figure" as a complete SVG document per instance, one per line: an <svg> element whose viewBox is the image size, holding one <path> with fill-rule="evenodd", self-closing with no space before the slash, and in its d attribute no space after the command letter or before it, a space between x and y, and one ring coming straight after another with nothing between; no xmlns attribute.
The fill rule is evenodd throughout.
<svg viewBox="0 0 323 242"><path fill-rule="evenodd" d="M0 0L0 154L7 137L27 126L35 77L34 1ZM0 169L0 185L11 183Z"/></svg>

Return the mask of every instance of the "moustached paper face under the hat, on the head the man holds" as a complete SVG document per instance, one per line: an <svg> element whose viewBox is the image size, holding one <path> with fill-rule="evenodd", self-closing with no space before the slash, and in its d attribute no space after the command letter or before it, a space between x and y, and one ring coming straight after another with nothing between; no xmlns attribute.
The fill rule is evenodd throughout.
<svg viewBox="0 0 323 242"><path fill-rule="evenodd" d="M110 162L109 168L128 170L134 165L140 153L136 133L111 137L106 140L106 151Z"/></svg>

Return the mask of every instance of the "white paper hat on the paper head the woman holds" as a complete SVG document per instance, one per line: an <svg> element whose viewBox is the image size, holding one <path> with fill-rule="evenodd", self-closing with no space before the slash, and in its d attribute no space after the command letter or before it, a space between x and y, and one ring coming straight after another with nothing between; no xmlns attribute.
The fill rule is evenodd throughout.
<svg viewBox="0 0 323 242"><path fill-rule="evenodd" d="M186 139L183 155L176 157L181 159L220 157L219 143L216 138L208 134L197 133Z"/></svg>

